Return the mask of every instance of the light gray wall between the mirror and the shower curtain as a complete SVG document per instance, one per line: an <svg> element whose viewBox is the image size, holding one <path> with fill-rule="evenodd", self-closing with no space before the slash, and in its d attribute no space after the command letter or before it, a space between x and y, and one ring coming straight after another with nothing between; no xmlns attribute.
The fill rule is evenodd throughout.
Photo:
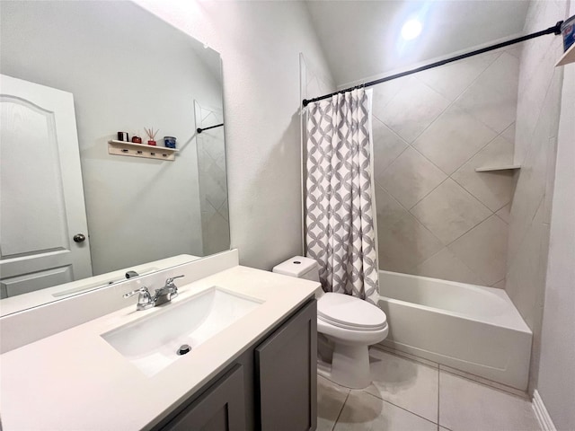
<svg viewBox="0 0 575 431"><path fill-rule="evenodd" d="M137 3L221 53L231 242L270 269L302 251L299 65L331 76L302 2Z"/></svg>

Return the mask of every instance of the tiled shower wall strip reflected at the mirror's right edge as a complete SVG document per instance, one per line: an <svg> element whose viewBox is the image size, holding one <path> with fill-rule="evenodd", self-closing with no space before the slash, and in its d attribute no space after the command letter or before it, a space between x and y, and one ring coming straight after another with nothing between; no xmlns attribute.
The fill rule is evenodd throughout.
<svg viewBox="0 0 575 431"><path fill-rule="evenodd" d="M196 128L224 122L221 110L194 103ZM199 206L204 256L230 248L227 207L226 145L224 128L212 128L196 135L198 145Z"/></svg>

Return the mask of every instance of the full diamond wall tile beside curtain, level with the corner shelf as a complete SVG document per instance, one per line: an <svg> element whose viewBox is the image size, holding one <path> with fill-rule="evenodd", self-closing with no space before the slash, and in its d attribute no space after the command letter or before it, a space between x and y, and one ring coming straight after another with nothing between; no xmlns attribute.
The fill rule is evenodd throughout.
<svg viewBox="0 0 575 431"><path fill-rule="evenodd" d="M395 159L381 177L381 185L405 208L411 208L447 175L412 148Z"/></svg>

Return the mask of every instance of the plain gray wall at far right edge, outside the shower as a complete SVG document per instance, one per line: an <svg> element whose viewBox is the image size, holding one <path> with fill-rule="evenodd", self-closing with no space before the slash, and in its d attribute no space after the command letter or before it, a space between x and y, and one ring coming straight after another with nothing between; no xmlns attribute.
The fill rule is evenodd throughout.
<svg viewBox="0 0 575 431"><path fill-rule="evenodd" d="M575 4L565 16L575 14ZM575 429L575 64L564 66L537 391L555 427Z"/></svg>

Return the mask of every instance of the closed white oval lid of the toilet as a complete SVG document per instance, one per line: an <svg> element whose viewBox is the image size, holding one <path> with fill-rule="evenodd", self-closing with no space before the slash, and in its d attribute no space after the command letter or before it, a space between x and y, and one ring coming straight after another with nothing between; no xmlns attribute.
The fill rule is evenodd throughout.
<svg viewBox="0 0 575 431"><path fill-rule="evenodd" d="M373 303L332 292L317 302L317 317L349 330L383 330L387 325L385 312Z"/></svg>

